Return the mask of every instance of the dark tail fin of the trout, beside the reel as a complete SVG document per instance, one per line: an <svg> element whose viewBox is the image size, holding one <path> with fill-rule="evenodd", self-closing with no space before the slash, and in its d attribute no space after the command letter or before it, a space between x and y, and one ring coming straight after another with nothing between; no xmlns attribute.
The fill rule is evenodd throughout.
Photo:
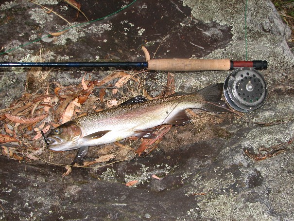
<svg viewBox="0 0 294 221"><path fill-rule="evenodd" d="M201 109L215 113L228 112L228 106L226 105L225 101L222 100L223 90L223 83L213 84L199 90L197 93L201 94L206 101Z"/></svg>

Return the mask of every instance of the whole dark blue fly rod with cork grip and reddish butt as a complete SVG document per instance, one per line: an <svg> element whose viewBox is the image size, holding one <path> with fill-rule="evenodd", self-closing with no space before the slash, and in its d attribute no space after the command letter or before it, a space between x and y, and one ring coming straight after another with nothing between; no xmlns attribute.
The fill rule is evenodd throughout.
<svg viewBox="0 0 294 221"><path fill-rule="evenodd" d="M267 61L232 61L229 59L150 59L142 47L146 62L0 62L0 67L117 67L147 68L154 71L229 71L235 68L267 68Z"/></svg>

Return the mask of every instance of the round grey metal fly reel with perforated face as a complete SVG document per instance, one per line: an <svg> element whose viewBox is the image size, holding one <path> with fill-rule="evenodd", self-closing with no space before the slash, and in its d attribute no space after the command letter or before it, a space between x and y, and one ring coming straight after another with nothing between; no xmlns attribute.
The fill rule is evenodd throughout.
<svg viewBox="0 0 294 221"><path fill-rule="evenodd" d="M253 68L239 68L225 79L224 94L233 109L249 112L263 105L267 88L258 71Z"/></svg>

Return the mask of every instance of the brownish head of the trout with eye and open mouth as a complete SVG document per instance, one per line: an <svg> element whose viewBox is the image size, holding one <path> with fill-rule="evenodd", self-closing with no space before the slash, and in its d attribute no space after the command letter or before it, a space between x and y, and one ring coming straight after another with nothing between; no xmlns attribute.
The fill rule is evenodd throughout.
<svg viewBox="0 0 294 221"><path fill-rule="evenodd" d="M82 129L69 121L52 129L45 140L48 148L54 151L72 150L79 148L77 143L81 135Z"/></svg>

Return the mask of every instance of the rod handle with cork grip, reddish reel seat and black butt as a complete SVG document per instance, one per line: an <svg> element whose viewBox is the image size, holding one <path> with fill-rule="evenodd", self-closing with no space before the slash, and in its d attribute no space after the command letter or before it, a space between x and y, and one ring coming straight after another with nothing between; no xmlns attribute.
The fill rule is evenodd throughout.
<svg viewBox="0 0 294 221"><path fill-rule="evenodd" d="M229 71L234 68L267 68L267 61L231 61L229 59L152 59L148 70L154 71Z"/></svg>

